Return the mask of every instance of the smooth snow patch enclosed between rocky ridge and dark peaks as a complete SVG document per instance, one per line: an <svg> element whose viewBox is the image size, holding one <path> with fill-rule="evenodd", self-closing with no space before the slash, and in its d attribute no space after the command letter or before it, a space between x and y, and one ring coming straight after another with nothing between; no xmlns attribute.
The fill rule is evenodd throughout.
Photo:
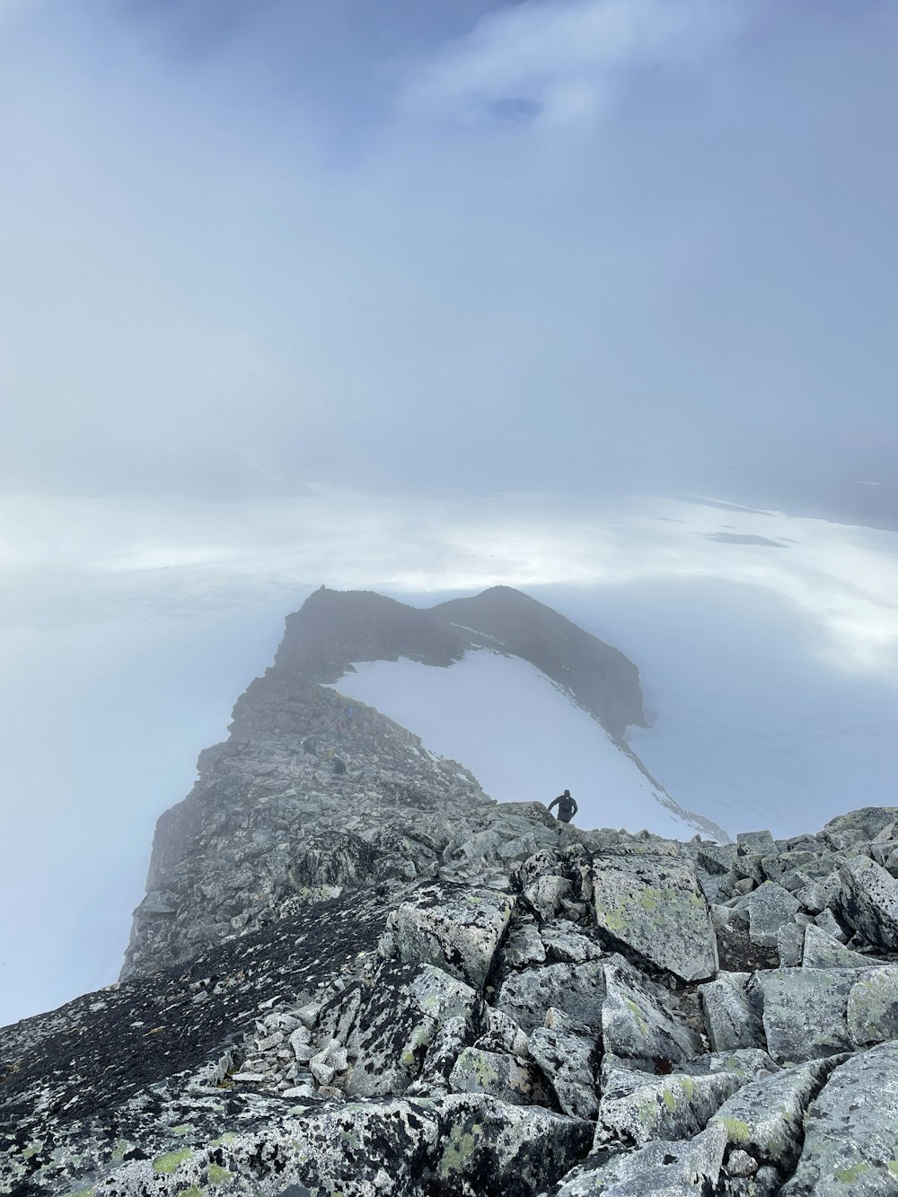
<svg viewBox="0 0 898 1197"><path fill-rule="evenodd" d="M473 651L443 668L404 658L356 669L336 682L340 693L465 761L499 801L550 802L569 789L582 827L694 832L595 719L518 657Z"/></svg>

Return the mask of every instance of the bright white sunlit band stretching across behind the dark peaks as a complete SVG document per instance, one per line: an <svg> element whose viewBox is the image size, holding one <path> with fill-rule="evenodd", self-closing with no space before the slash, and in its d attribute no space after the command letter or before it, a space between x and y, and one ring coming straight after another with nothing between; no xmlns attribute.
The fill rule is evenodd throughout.
<svg viewBox="0 0 898 1197"><path fill-rule="evenodd" d="M316 486L242 503L5 498L0 529L0 630L290 603L321 582L419 595L699 581L784 601L836 670L898 669L898 533L732 504L409 505Z"/></svg>

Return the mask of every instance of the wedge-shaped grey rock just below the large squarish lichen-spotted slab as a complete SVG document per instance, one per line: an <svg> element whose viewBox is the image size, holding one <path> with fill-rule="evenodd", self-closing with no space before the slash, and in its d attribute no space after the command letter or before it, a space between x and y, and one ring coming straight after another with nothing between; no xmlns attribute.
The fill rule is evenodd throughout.
<svg viewBox="0 0 898 1197"><path fill-rule="evenodd" d="M698 1035L662 1003L657 986L621 964L605 965L602 1041L624 1059L680 1061L694 1056Z"/></svg>

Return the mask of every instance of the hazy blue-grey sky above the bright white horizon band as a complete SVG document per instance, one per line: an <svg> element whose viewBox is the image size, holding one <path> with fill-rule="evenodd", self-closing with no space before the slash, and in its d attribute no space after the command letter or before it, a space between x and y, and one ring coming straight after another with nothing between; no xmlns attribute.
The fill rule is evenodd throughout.
<svg viewBox="0 0 898 1197"><path fill-rule="evenodd" d="M890 0L4 0L0 485L892 523L897 38Z"/></svg>

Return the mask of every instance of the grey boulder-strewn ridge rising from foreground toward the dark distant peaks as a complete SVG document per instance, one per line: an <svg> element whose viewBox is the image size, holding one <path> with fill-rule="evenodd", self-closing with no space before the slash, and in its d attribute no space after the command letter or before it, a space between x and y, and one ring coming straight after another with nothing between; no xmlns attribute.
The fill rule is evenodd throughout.
<svg viewBox="0 0 898 1197"><path fill-rule="evenodd" d="M565 826L297 652L160 818L122 979L0 1031L0 1191L898 1195L898 808Z"/></svg>

